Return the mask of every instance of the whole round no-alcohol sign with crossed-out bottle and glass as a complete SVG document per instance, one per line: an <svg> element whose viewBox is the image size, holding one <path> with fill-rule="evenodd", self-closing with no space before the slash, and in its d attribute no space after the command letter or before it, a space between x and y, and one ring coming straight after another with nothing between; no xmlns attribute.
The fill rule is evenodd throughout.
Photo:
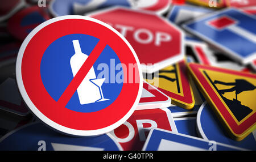
<svg viewBox="0 0 256 162"><path fill-rule="evenodd" d="M16 78L24 101L47 125L71 135L99 135L134 112L143 84L139 66L115 29L69 15L48 20L27 36Z"/></svg>

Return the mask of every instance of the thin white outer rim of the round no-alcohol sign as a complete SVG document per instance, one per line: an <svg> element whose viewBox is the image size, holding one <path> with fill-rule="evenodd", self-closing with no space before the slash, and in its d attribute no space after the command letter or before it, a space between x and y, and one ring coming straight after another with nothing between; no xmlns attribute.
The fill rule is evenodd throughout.
<svg viewBox="0 0 256 162"><path fill-rule="evenodd" d="M38 33L42 28L46 27L49 24L58 22L60 20L65 20L65 19L89 20L91 22L101 24L104 27L110 29L115 34L117 34L119 37L121 37L121 39L126 43L126 45L130 48L131 52L133 53L133 56L134 56L134 58L135 58L135 60L137 62L138 70L139 70L139 91L138 91L138 95L136 97L136 100L135 100L133 106L129 110L129 112L127 112L127 114L124 117L122 117L120 120L118 120L117 122L113 123L112 125L109 125L107 127L103 127L101 129L96 129L96 130L76 130L76 129L71 129L69 127L62 126L59 123L56 123L56 122L52 121L51 119L49 119L48 117L44 116L44 114L41 113L38 108L36 108L36 106L30 100L30 97L28 97L28 95L27 95L26 89L25 89L24 84L23 84L22 71L21 71L22 58L23 58L24 50L26 49L26 47L28 45L28 42L30 42L32 37L34 37L36 35L36 33ZM80 15L59 16L57 18L49 19L46 22L38 25L38 27L33 29L29 33L29 35L26 37L26 39L22 42L22 45L20 46L20 49L19 49L19 53L18 53L18 57L17 57L17 61L16 61L16 69L15 70L16 70L16 81L17 81L17 84L18 84L18 88L19 88L20 94L22 95L23 100L27 104L28 108L30 108L31 112L34 113L35 116L38 117L40 120L42 120L44 123L46 123L47 125L51 126L53 129L56 129L56 130L60 131L61 133L68 134L68 135L94 136L94 135L101 135L101 134L104 134L104 133L108 133L109 131L114 130L118 126L122 125L122 123L124 123L131 116L131 114L133 114L135 108L139 104L139 100L141 99L141 95L142 95L143 79L142 79L141 63L139 62L139 59L138 59L137 54L135 53L133 47L125 39L125 37L123 37L121 35L121 33L116 31L113 27L111 27L110 25L108 25L108 24L106 24L104 22L101 22L100 20L97 20L97 19L94 19L94 18L89 18L88 16L80 16Z"/></svg>

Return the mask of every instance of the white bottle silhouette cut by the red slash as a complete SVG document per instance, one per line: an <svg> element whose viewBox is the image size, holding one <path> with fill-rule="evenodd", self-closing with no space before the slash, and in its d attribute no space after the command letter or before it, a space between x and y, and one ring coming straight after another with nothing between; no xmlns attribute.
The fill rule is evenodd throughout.
<svg viewBox="0 0 256 162"><path fill-rule="evenodd" d="M70 65L73 76L75 77L76 73L80 70L88 56L82 53L79 40L73 40L72 42L75 49L75 54L70 59ZM95 103L97 100L101 99L100 89L95 84L90 82L90 79L96 79L93 66L77 88L81 105Z"/></svg>

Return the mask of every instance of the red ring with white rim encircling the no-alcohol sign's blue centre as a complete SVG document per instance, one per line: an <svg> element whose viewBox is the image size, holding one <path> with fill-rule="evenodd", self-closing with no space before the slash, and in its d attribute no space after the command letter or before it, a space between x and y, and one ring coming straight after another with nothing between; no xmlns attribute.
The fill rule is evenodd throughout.
<svg viewBox="0 0 256 162"><path fill-rule="evenodd" d="M85 21L80 21L81 19ZM72 25L72 27L67 25L67 21L69 25ZM69 21L73 21L73 22L70 23ZM115 127L118 127L119 125L121 125L123 122L127 120L127 118L130 117L130 115L135 110L135 107L138 105L141 92L142 92L142 84L143 84L142 73L139 68L140 64L138 62L137 56L134 55L135 52L131 48L130 44L129 43L127 44L127 40L124 40L124 38L121 37L121 34L115 31L115 29L93 18L88 18L85 16L69 15L69 16L61 16L58 18L54 18L54 19L48 20L47 22L39 25L36 29L34 29L34 32L32 31L30 35L28 35L26 40L23 42L22 47L20 48L20 51L18 54L18 59L16 64L16 71L18 73L16 73L16 76L17 76L16 78L18 82L18 87L20 89L20 92L22 93L23 99L26 101L26 104L30 107L30 109L32 104L33 106L33 108L31 109L32 112L36 114L36 116L38 116L41 120L43 120L53 128L63 131L64 133L67 133L67 134L98 135L98 134L111 131ZM88 23L92 24L93 27L88 29L88 26L86 26L84 23L85 24L87 23L86 25L88 25ZM97 26L96 24L97 25L101 24L101 25L98 25L98 27L101 29L105 29L104 34L102 32L98 32L95 30L95 27ZM56 25L59 25L57 27L59 30L56 30ZM87 27L86 30L85 30L85 26ZM48 35L43 33L45 31L48 32ZM104 35L104 37L106 37L106 35L108 36L111 35L111 38L112 38L111 40L108 40L109 37L106 37L106 40L101 39L100 41L108 42L108 45L114 49L115 53L120 53L120 51L124 52L125 50L126 52L124 53L130 53L130 54L133 53L134 57L132 59L126 58L127 56L130 56L130 55L129 54L127 55L124 53L122 53L122 56L118 56L118 57L122 63L125 63L127 65L128 63L137 63L140 82L139 84L138 83L123 84L123 88L120 95L114 101L114 103L112 103L107 108L94 113L80 113L80 112L69 110L67 108L64 108L64 109L60 108L55 104L56 101L53 100L51 96L49 96L48 92L43 86L42 79L40 78L40 71L38 71L40 70L39 60L41 61L44 50L48 47L48 45L51 44L53 41L55 41L57 38L68 35L68 34L72 34L72 33L89 34L89 32L92 32L90 33L90 35L97 38L102 35ZM52 34L49 35L49 33L52 33ZM115 34L113 35L113 33ZM118 43L114 42L113 38L117 38ZM121 49L121 46L123 46L123 49ZM41 52L39 49L41 50ZM39 50L39 51L36 52L36 50ZM26 56L23 56L23 53L26 53ZM34 53L37 53L37 54L35 55ZM31 58L33 61L31 61ZM134 84L137 86L134 86ZM20 88L21 86L23 88ZM137 92L139 92L137 96L130 92L130 91L133 91L134 89L137 89ZM38 94L40 94L40 96ZM127 96L129 96L129 100L127 100ZM38 97L38 99L35 99L35 97ZM125 104L122 104L122 103L125 103ZM40 105L43 105L44 108L46 109L42 109ZM55 113L52 113L53 108ZM35 109L38 109L41 114L39 112L36 112ZM117 113L120 113L120 110L123 110L123 112L118 115ZM42 119L42 115L48 118L48 120L55 122L59 126L56 126L56 125L53 126L49 124L47 122L48 120L46 121L45 118ZM73 115L75 115L75 117L71 118L71 116ZM121 121L121 120L118 120L119 118L121 118L122 122L119 122ZM124 118L126 120L123 120ZM88 125L88 123L92 123L92 122L93 122L93 125L92 124ZM59 127L65 127L65 128L60 129ZM112 128L106 129L107 127L112 127ZM69 129L77 130L77 132L76 133L74 131L71 132ZM101 131L101 130L105 130L105 131Z"/></svg>

